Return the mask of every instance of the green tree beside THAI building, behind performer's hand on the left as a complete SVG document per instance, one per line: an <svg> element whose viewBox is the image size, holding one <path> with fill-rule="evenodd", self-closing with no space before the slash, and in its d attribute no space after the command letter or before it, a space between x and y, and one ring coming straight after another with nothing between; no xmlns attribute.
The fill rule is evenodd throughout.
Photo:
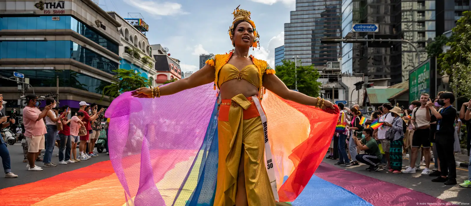
<svg viewBox="0 0 471 206"><path fill-rule="evenodd" d="M121 79L120 81L113 81L111 85L103 88L103 95L116 98L120 94L140 87L149 87L150 82L145 77L142 77L140 72L135 73L134 70L117 69L114 78Z"/></svg>

